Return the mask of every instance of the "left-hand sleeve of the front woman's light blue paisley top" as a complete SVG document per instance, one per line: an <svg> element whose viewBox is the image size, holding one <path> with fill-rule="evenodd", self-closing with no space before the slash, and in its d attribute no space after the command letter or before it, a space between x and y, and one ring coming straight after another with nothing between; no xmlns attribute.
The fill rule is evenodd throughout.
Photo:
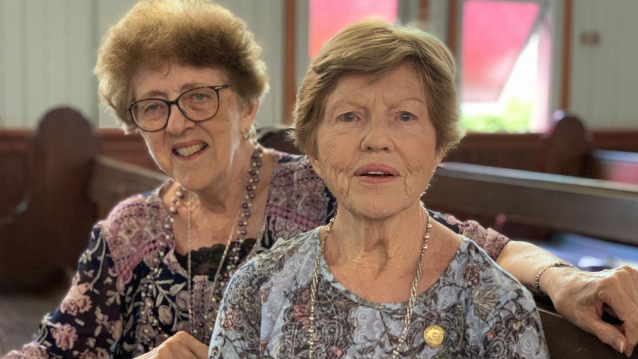
<svg viewBox="0 0 638 359"><path fill-rule="evenodd" d="M261 281L253 262L233 275L219 305L209 358L261 358Z"/></svg>

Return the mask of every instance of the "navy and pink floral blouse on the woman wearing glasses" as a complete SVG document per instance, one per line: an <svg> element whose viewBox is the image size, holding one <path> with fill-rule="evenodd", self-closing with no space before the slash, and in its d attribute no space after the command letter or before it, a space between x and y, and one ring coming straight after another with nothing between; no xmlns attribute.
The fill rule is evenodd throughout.
<svg viewBox="0 0 638 359"><path fill-rule="evenodd" d="M276 238L293 238L327 224L334 216L336 201L308 159L272 153L275 164L262 236L244 242L254 243L243 248L244 262L271 248ZM508 242L477 222L431 215L477 241L493 257ZM188 292L187 271L175 255L168 218L159 188L118 204L94 227L61 305L43 318L33 342L6 358L131 357L158 346L179 330L208 344L219 305L210 300L212 279L195 275ZM191 296L195 316L189 323Z"/></svg>

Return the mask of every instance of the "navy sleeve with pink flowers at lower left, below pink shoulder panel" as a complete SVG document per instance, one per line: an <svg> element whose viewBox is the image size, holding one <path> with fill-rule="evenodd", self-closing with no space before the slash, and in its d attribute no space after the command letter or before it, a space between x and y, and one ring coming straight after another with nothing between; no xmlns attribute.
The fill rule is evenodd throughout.
<svg viewBox="0 0 638 359"><path fill-rule="evenodd" d="M122 291L115 286L113 268L97 225L60 306L42 319L33 342L5 359L112 358L122 334Z"/></svg>

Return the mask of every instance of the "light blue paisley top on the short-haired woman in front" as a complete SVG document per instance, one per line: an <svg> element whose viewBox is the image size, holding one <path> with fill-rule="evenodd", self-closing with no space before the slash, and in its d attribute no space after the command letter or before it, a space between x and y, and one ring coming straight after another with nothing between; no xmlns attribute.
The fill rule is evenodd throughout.
<svg viewBox="0 0 638 359"><path fill-rule="evenodd" d="M308 358L309 297L321 253L318 229L279 241L232 277L210 358ZM315 358L389 358L406 303L373 303L348 291L322 256L315 304ZM443 342L424 340L427 327ZM429 333L429 332L428 332ZM437 345L439 344L439 345ZM451 263L417 296L403 358L549 358L531 293L463 237Z"/></svg>

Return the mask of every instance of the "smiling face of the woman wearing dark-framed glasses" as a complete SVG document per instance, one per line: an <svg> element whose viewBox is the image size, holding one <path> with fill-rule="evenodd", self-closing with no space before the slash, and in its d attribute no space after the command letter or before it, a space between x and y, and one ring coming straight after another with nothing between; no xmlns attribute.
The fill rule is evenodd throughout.
<svg viewBox="0 0 638 359"><path fill-rule="evenodd" d="M133 77L135 100L175 100L189 89L228 84L223 72L167 63L144 66ZM237 155L242 134L250 129L257 103L242 105L232 88L219 91L219 110L205 121L194 122L172 105L163 130L142 132L159 167L188 190L209 188L225 174Z"/></svg>

